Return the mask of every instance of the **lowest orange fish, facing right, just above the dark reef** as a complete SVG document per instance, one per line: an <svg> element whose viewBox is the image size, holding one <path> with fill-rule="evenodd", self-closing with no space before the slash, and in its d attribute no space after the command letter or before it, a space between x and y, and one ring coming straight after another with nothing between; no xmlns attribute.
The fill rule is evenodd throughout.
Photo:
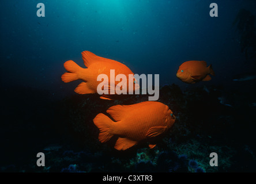
<svg viewBox="0 0 256 184"><path fill-rule="evenodd" d="M175 116L167 105L156 101L133 105L115 105L107 110L114 119L103 113L93 119L99 128L99 141L105 143L112 136L118 136L116 150L127 150L141 140L153 140L172 127ZM156 144L149 144L150 148Z"/></svg>

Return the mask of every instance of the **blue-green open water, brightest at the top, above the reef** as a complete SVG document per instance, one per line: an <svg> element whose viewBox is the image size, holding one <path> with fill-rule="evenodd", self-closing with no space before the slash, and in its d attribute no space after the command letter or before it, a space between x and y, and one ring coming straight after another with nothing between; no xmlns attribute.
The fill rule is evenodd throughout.
<svg viewBox="0 0 256 184"><path fill-rule="evenodd" d="M176 71L187 60L205 60L216 72L208 83L230 83L250 71L232 22L254 1L1 1L1 78L3 86L29 86L65 95L76 85L60 76L63 63L84 67L82 51L124 62L135 74L160 74L160 85L187 85ZM218 4L219 3L219 4ZM199 85L199 84L198 84ZM200 84L201 85L201 84ZM69 87L67 87L69 86Z"/></svg>

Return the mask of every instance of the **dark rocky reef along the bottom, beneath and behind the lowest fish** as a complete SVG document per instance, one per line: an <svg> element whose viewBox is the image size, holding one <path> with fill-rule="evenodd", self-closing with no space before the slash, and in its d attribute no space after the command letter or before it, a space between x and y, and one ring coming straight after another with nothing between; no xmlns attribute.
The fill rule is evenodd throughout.
<svg viewBox="0 0 256 184"><path fill-rule="evenodd" d="M35 93L31 93L29 101L33 99L36 105L26 106L25 101L20 101L20 105L28 109L20 113L19 118L9 120L16 122L16 129L13 129L13 124L7 126L7 122L3 127L5 133L2 136L5 139L7 136L8 141L3 145L7 151L2 154L6 155L2 156L9 159L3 162L1 171L251 172L256 163L253 141L256 120L255 106L248 105L246 99L254 98L254 91L246 94L247 97L239 94L244 98L237 98L238 93L232 91L228 94L231 105L221 104L219 99L223 93L220 86L195 86L185 91L175 84L161 87L159 101L174 112L174 126L155 148L149 149L148 145L141 143L126 151L115 150L111 141L100 143L99 130L92 120L110 106L147 101L146 95L108 101L99 99L96 94L75 94L59 101L36 101L32 95ZM29 114L32 110L34 113ZM17 150L21 155L18 158ZM8 152L12 154L8 155ZM37 152L45 154L45 167L36 165ZM211 152L219 155L218 167L209 164Z"/></svg>

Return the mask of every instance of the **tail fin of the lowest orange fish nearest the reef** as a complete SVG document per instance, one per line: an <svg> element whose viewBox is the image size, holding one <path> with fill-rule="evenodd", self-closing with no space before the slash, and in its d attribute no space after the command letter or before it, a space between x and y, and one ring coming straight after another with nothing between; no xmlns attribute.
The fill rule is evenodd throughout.
<svg viewBox="0 0 256 184"><path fill-rule="evenodd" d="M110 140L112 136L114 136L111 133L114 121L112 121L108 116L102 113L97 114L97 116L93 119L93 122L100 130L99 141L101 143L105 143L106 141Z"/></svg>

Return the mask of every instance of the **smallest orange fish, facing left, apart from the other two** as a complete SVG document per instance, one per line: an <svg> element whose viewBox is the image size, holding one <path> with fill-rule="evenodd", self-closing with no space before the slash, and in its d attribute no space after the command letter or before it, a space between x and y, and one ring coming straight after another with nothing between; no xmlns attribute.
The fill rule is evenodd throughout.
<svg viewBox="0 0 256 184"><path fill-rule="evenodd" d="M199 81L210 81L210 75L215 75L212 64L207 67L205 61L189 61L179 66L176 76L183 82L196 83Z"/></svg>

